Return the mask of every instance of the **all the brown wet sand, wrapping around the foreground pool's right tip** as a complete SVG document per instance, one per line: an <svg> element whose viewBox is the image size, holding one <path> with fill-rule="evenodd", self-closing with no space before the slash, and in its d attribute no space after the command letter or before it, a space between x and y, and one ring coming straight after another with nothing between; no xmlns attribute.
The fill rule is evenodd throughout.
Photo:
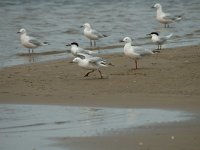
<svg viewBox="0 0 200 150"><path fill-rule="evenodd" d="M70 60L0 69L0 103L180 109L197 113L185 123L152 125L102 137L59 139L72 149L198 150L200 147L200 46L163 49L139 60L103 55L115 66L83 77ZM173 138L174 136L175 138Z"/></svg>

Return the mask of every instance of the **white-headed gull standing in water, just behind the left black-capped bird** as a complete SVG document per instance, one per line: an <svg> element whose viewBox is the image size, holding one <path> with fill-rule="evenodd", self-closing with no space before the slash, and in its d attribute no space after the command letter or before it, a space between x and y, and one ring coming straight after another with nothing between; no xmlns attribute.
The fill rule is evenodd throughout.
<svg viewBox="0 0 200 150"><path fill-rule="evenodd" d="M106 35L98 32L97 30L92 29L89 23L85 23L81 27L84 27L83 34L86 38L90 40L90 46L92 46L92 41L94 41L94 46L96 46L96 40L107 37Z"/></svg>

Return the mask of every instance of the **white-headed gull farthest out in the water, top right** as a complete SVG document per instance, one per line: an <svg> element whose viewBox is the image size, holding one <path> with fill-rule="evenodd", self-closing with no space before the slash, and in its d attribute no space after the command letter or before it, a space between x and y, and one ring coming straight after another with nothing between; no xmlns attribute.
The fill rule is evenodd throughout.
<svg viewBox="0 0 200 150"><path fill-rule="evenodd" d="M162 10L162 6L159 3L156 3L152 8L156 8L156 19L165 25L166 27L169 27L170 23L173 23L175 21L180 21L182 19L181 16L171 16L169 13L165 13Z"/></svg>

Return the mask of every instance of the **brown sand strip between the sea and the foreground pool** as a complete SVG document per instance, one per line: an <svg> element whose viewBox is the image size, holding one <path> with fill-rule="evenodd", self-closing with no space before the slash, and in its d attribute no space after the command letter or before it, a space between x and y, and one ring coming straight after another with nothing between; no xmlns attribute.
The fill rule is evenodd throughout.
<svg viewBox="0 0 200 150"><path fill-rule="evenodd" d="M130 70L134 62L123 54L102 55L115 65L102 68L102 80L96 72L84 78L87 70L70 59L1 68L0 103L173 107L170 99L183 99L198 108L199 47L163 49L139 60L138 70Z"/></svg>

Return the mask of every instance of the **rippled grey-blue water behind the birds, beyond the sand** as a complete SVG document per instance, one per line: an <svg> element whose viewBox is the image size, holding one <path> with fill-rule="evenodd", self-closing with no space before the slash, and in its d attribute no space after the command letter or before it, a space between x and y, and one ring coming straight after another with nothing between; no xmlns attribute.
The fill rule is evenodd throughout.
<svg viewBox="0 0 200 150"><path fill-rule="evenodd" d="M158 31L162 35L173 32L174 37L165 47L199 44L200 38L200 2L199 0L160 0L163 9L171 14L184 14L183 20L172 24L171 28L163 28L155 21L155 9L151 6L155 1L145 0L0 0L0 67L17 64L40 62L69 57L63 51L69 49L66 44L76 41L81 47L88 47L89 41L82 35L81 25L85 22L109 35L97 42L104 46L120 45L125 36L135 39L135 44L154 48L147 33ZM51 45L35 50L34 58L21 56L28 50L20 45L20 28ZM122 52L122 48L108 48L104 53Z"/></svg>

